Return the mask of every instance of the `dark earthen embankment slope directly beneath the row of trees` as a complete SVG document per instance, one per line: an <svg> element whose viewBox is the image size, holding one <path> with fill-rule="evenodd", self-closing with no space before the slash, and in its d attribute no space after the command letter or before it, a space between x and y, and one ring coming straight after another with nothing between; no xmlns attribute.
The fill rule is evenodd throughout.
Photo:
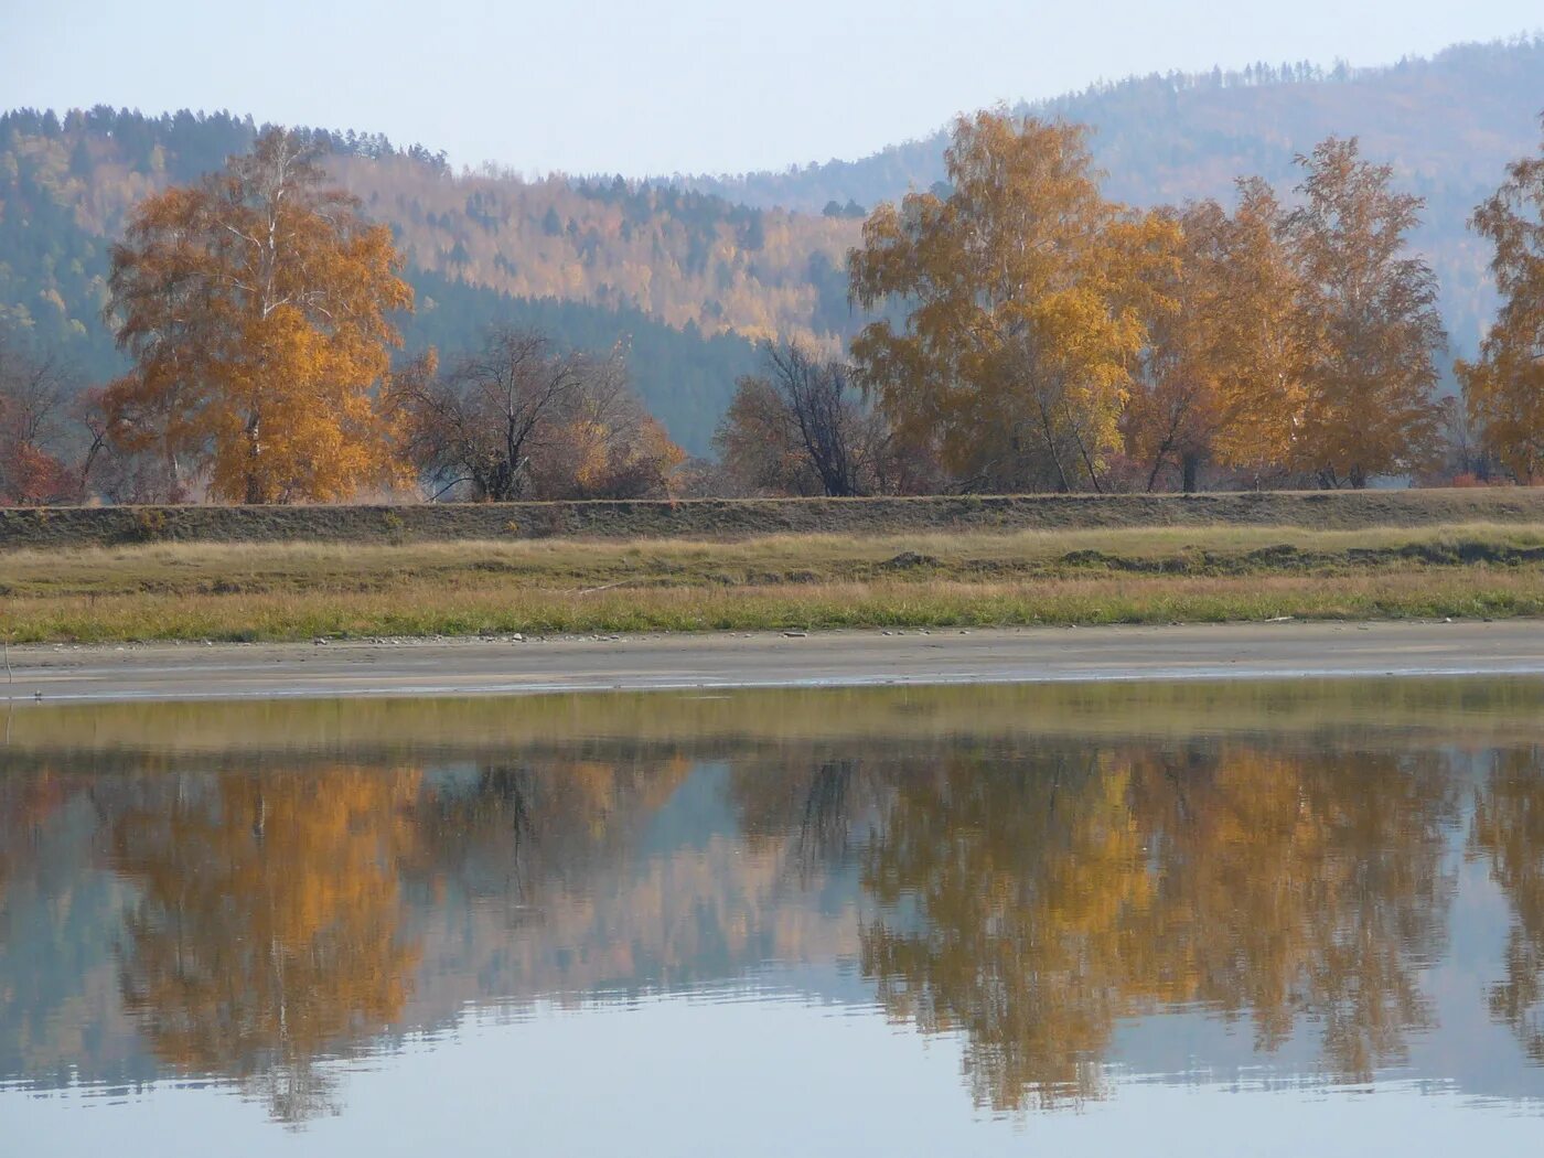
<svg viewBox="0 0 1544 1158"><path fill-rule="evenodd" d="M0 551L144 542L434 542L604 537L744 539L784 533L897 534L1102 527L1434 527L1544 523L1544 488L1268 491L925 499L415 506L105 506L0 510Z"/></svg>

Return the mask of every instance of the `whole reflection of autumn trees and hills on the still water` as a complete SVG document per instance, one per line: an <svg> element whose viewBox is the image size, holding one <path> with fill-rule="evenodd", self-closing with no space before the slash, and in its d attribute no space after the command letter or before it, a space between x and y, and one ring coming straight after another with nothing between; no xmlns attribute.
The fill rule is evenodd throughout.
<svg viewBox="0 0 1544 1158"><path fill-rule="evenodd" d="M576 713L567 738L378 752L327 740L346 707L310 746L281 727L229 753L187 709L191 747L137 720L82 747L73 724L0 777L0 1085L216 1078L304 1122L347 1101L334 1062L468 1005L772 973L951 1034L993 1112L1110 1096L1139 1024L1370 1084L1425 1036L1473 1048L1431 982L1465 852L1515 914L1476 1008L1544 1062L1544 750L1516 687L1495 712L1473 687L1419 735L1320 726L1302 698L1283 730L1016 727L1001 689L987 727L957 690L835 718L800 693L647 740ZM1028 718L1064 693L1014 695Z"/></svg>

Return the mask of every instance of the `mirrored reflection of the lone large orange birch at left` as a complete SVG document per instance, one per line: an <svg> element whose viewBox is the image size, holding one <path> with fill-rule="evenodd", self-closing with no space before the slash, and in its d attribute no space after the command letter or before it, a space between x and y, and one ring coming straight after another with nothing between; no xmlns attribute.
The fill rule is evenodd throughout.
<svg viewBox="0 0 1544 1158"><path fill-rule="evenodd" d="M408 993L397 866L417 784L334 766L137 794L111 826L142 889L120 984L159 1058L242 1079L284 1121L332 1109L317 1061L380 1031Z"/></svg>

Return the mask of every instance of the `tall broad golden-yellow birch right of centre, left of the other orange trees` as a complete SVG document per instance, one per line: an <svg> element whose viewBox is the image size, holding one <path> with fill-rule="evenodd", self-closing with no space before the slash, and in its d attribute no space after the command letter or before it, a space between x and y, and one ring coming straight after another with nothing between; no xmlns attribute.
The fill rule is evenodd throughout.
<svg viewBox="0 0 1544 1158"><path fill-rule="evenodd" d="M1143 278L1170 225L1107 201L1076 125L960 119L948 188L882 204L848 256L852 343L897 437L970 489L1101 488L1143 349Z"/></svg>

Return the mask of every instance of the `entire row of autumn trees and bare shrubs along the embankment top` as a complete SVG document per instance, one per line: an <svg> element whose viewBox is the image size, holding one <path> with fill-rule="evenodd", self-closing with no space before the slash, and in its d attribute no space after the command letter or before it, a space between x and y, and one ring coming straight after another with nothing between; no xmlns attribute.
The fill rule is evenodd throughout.
<svg viewBox="0 0 1544 1158"><path fill-rule="evenodd" d="M69 400L0 337L0 499L317 502L1365 486L1544 472L1544 150L1473 216L1502 309L1436 392L1420 198L1356 139L1300 156L1291 198L1135 210L1087 130L962 117L948 181L863 221L846 357L767 341L687 463L621 349L496 326L406 360L392 230L329 184L315 134L269 130L147 196L105 317L131 369ZM628 190L604 191L627 201ZM747 219L749 221L749 219ZM394 357L395 355L395 357ZM71 460L62 448L76 448ZM1444 476L1445 471L1445 476Z"/></svg>

